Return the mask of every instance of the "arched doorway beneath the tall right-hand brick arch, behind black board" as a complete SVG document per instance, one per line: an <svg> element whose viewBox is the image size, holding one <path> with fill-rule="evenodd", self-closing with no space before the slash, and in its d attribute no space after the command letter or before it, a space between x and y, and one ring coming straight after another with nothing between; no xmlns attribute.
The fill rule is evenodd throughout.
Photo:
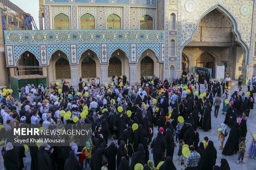
<svg viewBox="0 0 256 170"><path fill-rule="evenodd" d="M211 68L211 75L215 75L215 66L214 66L214 58L211 54L205 52L201 54L199 57L197 57L197 67L203 67L203 68Z"/></svg>

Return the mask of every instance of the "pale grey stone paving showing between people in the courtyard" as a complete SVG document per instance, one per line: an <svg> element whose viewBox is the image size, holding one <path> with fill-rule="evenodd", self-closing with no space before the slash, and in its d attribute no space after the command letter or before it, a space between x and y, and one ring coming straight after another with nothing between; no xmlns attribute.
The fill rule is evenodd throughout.
<svg viewBox="0 0 256 170"><path fill-rule="evenodd" d="M237 82L233 82L232 83L232 88L236 88L237 87ZM246 93L247 91L247 86L242 86L243 91ZM202 91L204 91L204 85L200 86L200 90L201 93ZM231 92L233 93L234 90L230 90L229 93L231 95ZM256 170L256 159L251 159L250 156L248 154L245 154L244 157L244 161L245 163L239 163L237 164L237 158L238 158L238 154L234 154L232 156L223 156L221 154L222 150L219 150L219 146L220 146L220 142L218 141L218 132L217 129L220 128L220 125L218 123L223 123L224 119L225 119L225 115L226 114L222 114L221 112L222 106L220 106L220 110L219 110L219 114L218 114L218 118L215 118L214 115L214 107L212 109L211 112L211 125L212 125L212 130L208 131L208 132L203 132L203 130L198 129L197 131L199 132L199 137L200 137L200 141L204 140L205 136L209 137L209 140L212 140L214 142L214 146L217 149L217 159L216 159L216 165L220 165L219 160L221 158L225 158L227 159L229 165L230 165L230 169L231 170L235 170L236 168L238 168L239 170ZM251 109L250 112L250 116L247 119L247 128L249 130L251 130L251 133L254 134L254 132L256 131L256 104L254 104L254 109ZM230 128L228 127L228 132L230 131ZM154 128L154 137L157 134L157 128ZM249 132L247 132L247 139L249 139L249 142L247 142L247 146L249 145L250 141L251 141L251 134ZM225 139L225 142L228 138ZM111 142L111 140L108 141L109 143ZM224 142L224 145L225 145ZM178 144L177 144L178 145ZM149 153L151 153L151 151L149 151ZM175 147L174 150L174 155L173 155L173 163L176 166L177 170L184 170L184 167L180 165L180 160L178 160L178 147ZM26 151L26 158L24 158L24 165L27 165L27 169L30 169L30 164L31 164L31 157L29 154L29 150ZM130 158L131 159L131 158ZM153 160L153 154L149 154L149 159ZM4 170L3 167L3 158L2 156L0 156L0 170ZM86 170L89 170L89 168L87 168Z"/></svg>

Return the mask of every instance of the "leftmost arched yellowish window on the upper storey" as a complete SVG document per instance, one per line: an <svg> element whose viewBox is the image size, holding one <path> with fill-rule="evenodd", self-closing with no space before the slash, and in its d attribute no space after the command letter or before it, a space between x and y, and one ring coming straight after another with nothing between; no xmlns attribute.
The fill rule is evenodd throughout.
<svg viewBox="0 0 256 170"><path fill-rule="evenodd" d="M54 17L55 30L69 30L69 16L59 14Z"/></svg>

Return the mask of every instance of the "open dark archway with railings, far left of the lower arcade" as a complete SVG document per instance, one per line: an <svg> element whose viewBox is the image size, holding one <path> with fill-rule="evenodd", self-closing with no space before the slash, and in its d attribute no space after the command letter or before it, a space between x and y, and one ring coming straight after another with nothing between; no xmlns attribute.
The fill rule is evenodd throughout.
<svg viewBox="0 0 256 170"><path fill-rule="evenodd" d="M36 56L30 51L25 51L17 61L17 75L43 75L42 68Z"/></svg>

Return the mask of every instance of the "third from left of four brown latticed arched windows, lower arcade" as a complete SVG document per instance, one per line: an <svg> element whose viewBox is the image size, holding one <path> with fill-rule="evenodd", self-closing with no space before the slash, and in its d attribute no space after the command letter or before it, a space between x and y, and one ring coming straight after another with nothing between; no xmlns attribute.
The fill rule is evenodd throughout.
<svg viewBox="0 0 256 170"><path fill-rule="evenodd" d="M112 77L113 75L120 76L122 75L122 63L117 57L112 57L109 60L109 68L108 68L108 77Z"/></svg>

